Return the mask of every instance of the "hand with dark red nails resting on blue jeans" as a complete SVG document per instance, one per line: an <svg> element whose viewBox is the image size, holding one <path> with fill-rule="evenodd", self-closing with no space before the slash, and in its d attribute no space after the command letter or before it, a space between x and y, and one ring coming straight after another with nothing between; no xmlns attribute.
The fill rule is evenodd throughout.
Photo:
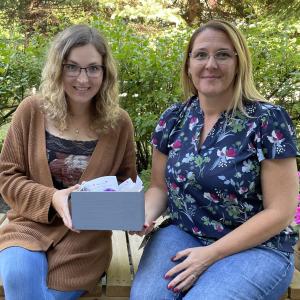
<svg viewBox="0 0 300 300"><path fill-rule="evenodd" d="M168 284L168 289L172 289L174 292L190 289L198 277L217 260L210 246L188 248L178 252L171 259L177 261L184 257L182 262L165 274L166 279L178 274Z"/></svg>

